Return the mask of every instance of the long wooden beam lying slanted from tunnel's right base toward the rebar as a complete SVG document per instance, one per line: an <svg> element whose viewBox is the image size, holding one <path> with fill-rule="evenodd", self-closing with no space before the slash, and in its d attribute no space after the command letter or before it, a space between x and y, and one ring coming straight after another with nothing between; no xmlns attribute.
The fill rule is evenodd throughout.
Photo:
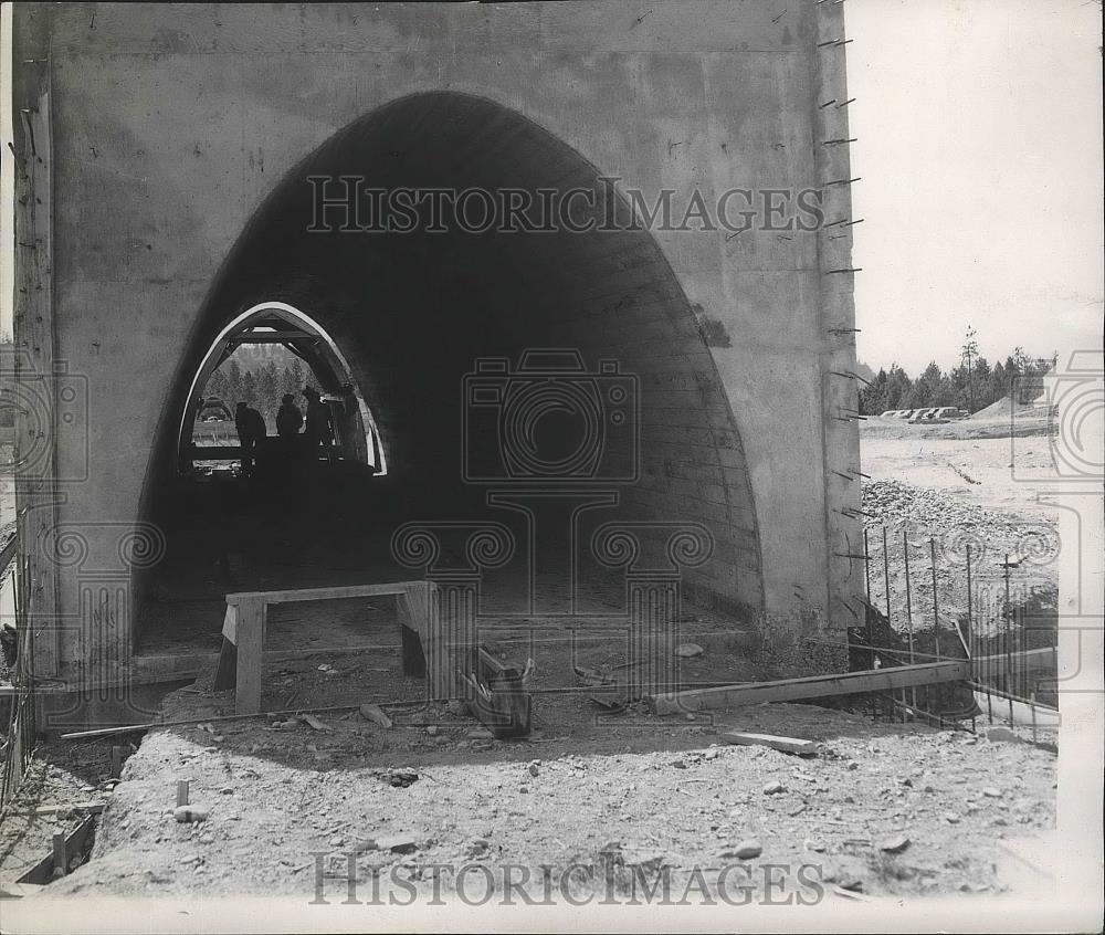
<svg viewBox="0 0 1105 935"><path fill-rule="evenodd" d="M935 685L940 682L966 681L970 677L967 660L927 662L920 665L896 665L866 669L836 675L810 675L777 682L749 682L719 689L669 692L646 696L655 714L674 714L767 702L802 701L804 698L851 695L857 692L884 692L912 685Z"/></svg>

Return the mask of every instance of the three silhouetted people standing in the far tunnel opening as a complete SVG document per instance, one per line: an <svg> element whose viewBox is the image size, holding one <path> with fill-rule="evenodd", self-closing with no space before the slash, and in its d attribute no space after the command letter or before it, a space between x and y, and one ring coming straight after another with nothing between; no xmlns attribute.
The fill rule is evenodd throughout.
<svg viewBox="0 0 1105 935"><path fill-rule="evenodd" d="M319 455L333 458L334 421L329 407L314 387L304 387L303 397L307 401L306 413L295 405L293 393L284 393L276 411L276 438L278 444L266 445L269 428L264 417L245 402L239 402L234 412L234 426L242 449L242 474L253 476L259 455L276 455L280 473L291 475L299 468L311 469L318 464ZM302 430L302 431L301 431ZM322 449L322 451L320 451Z"/></svg>

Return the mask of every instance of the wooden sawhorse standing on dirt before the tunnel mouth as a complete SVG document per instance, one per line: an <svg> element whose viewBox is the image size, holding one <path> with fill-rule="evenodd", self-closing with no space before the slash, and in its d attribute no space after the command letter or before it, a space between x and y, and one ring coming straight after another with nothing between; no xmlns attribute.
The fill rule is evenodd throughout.
<svg viewBox="0 0 1105 935"><path fill-rule="evenodd" d="M399 622L403 637L403 670L412 671L408 645L417 635L421 641L425 664L431 673L443 670L439 654L444 643L440 632L438 589L433 581L394 581L390 585L352 585L339 588L304 588L292 591L246 591L227 595L227 618L222 624L222 650L214 676L217 692L234 689L235 714L261 713L261 668L264 661L265 621L269 605L306 600L394 595L399 605ZM431 675L431 682L433 681ZM439 686L431 684L436 694Z"/></svg>

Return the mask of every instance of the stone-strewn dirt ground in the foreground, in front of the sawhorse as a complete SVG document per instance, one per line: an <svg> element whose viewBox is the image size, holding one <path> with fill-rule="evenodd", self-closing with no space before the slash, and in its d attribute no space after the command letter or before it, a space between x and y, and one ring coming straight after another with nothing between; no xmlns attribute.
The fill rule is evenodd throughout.
<svg viewBox="0 0 1105 935"><path fill-rule="evenodd" d="M193 695L187 704L208 703ZM650 883L670 873L678 892L698 868L717 892L722 869L743 864L744 885L762 895L769 861L788 868L794 891L808 865L824 897L844 897L834 886L1000 894L1015 892L1001 840L1054 827L1053 755L822 707L769 705L695 722L627 713L596 718L582 734L546 723L520 742L469 739L475 723L443 710L398 715L390 729L359 714L319 717L329 729L217 722L218 734L149 734L112 796L93 860L51 894L309 899L322 886L339 900L346 855L358 851L366 893L373 875L432 892L436 873L449 894L472 863L498 885L505 864L533 880L543 864L598 868L572 879L583 892L607 885L608 871L632 886L633 868ZM812 757L718 745L726 727L820 743ZM417 779L394 785L404 774ZM178 779L190 781L206 821L173 819ZM748 839L761 848L755 859L738 857Z"/></svg>

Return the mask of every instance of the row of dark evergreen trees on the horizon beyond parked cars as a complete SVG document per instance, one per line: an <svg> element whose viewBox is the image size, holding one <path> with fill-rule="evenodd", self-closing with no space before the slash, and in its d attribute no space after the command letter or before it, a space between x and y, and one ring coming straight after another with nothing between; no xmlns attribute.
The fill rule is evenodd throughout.
<svg viewBox="0 0 1105 935"><path fill-rule="evenodd" d="M877 416L887 409L924 409L955 406L978 412L999 399L1014 396L1020 403L1031 402L1043 390L1040 377L1054 366L1055 358L1029 357L1020 347L1004 361L992 366L978 354L974 332L968 330L958 366L944 371L933 361L917 378L911 378L897 364L880 369L870 385L860 386L860 412Z"/></svg>

